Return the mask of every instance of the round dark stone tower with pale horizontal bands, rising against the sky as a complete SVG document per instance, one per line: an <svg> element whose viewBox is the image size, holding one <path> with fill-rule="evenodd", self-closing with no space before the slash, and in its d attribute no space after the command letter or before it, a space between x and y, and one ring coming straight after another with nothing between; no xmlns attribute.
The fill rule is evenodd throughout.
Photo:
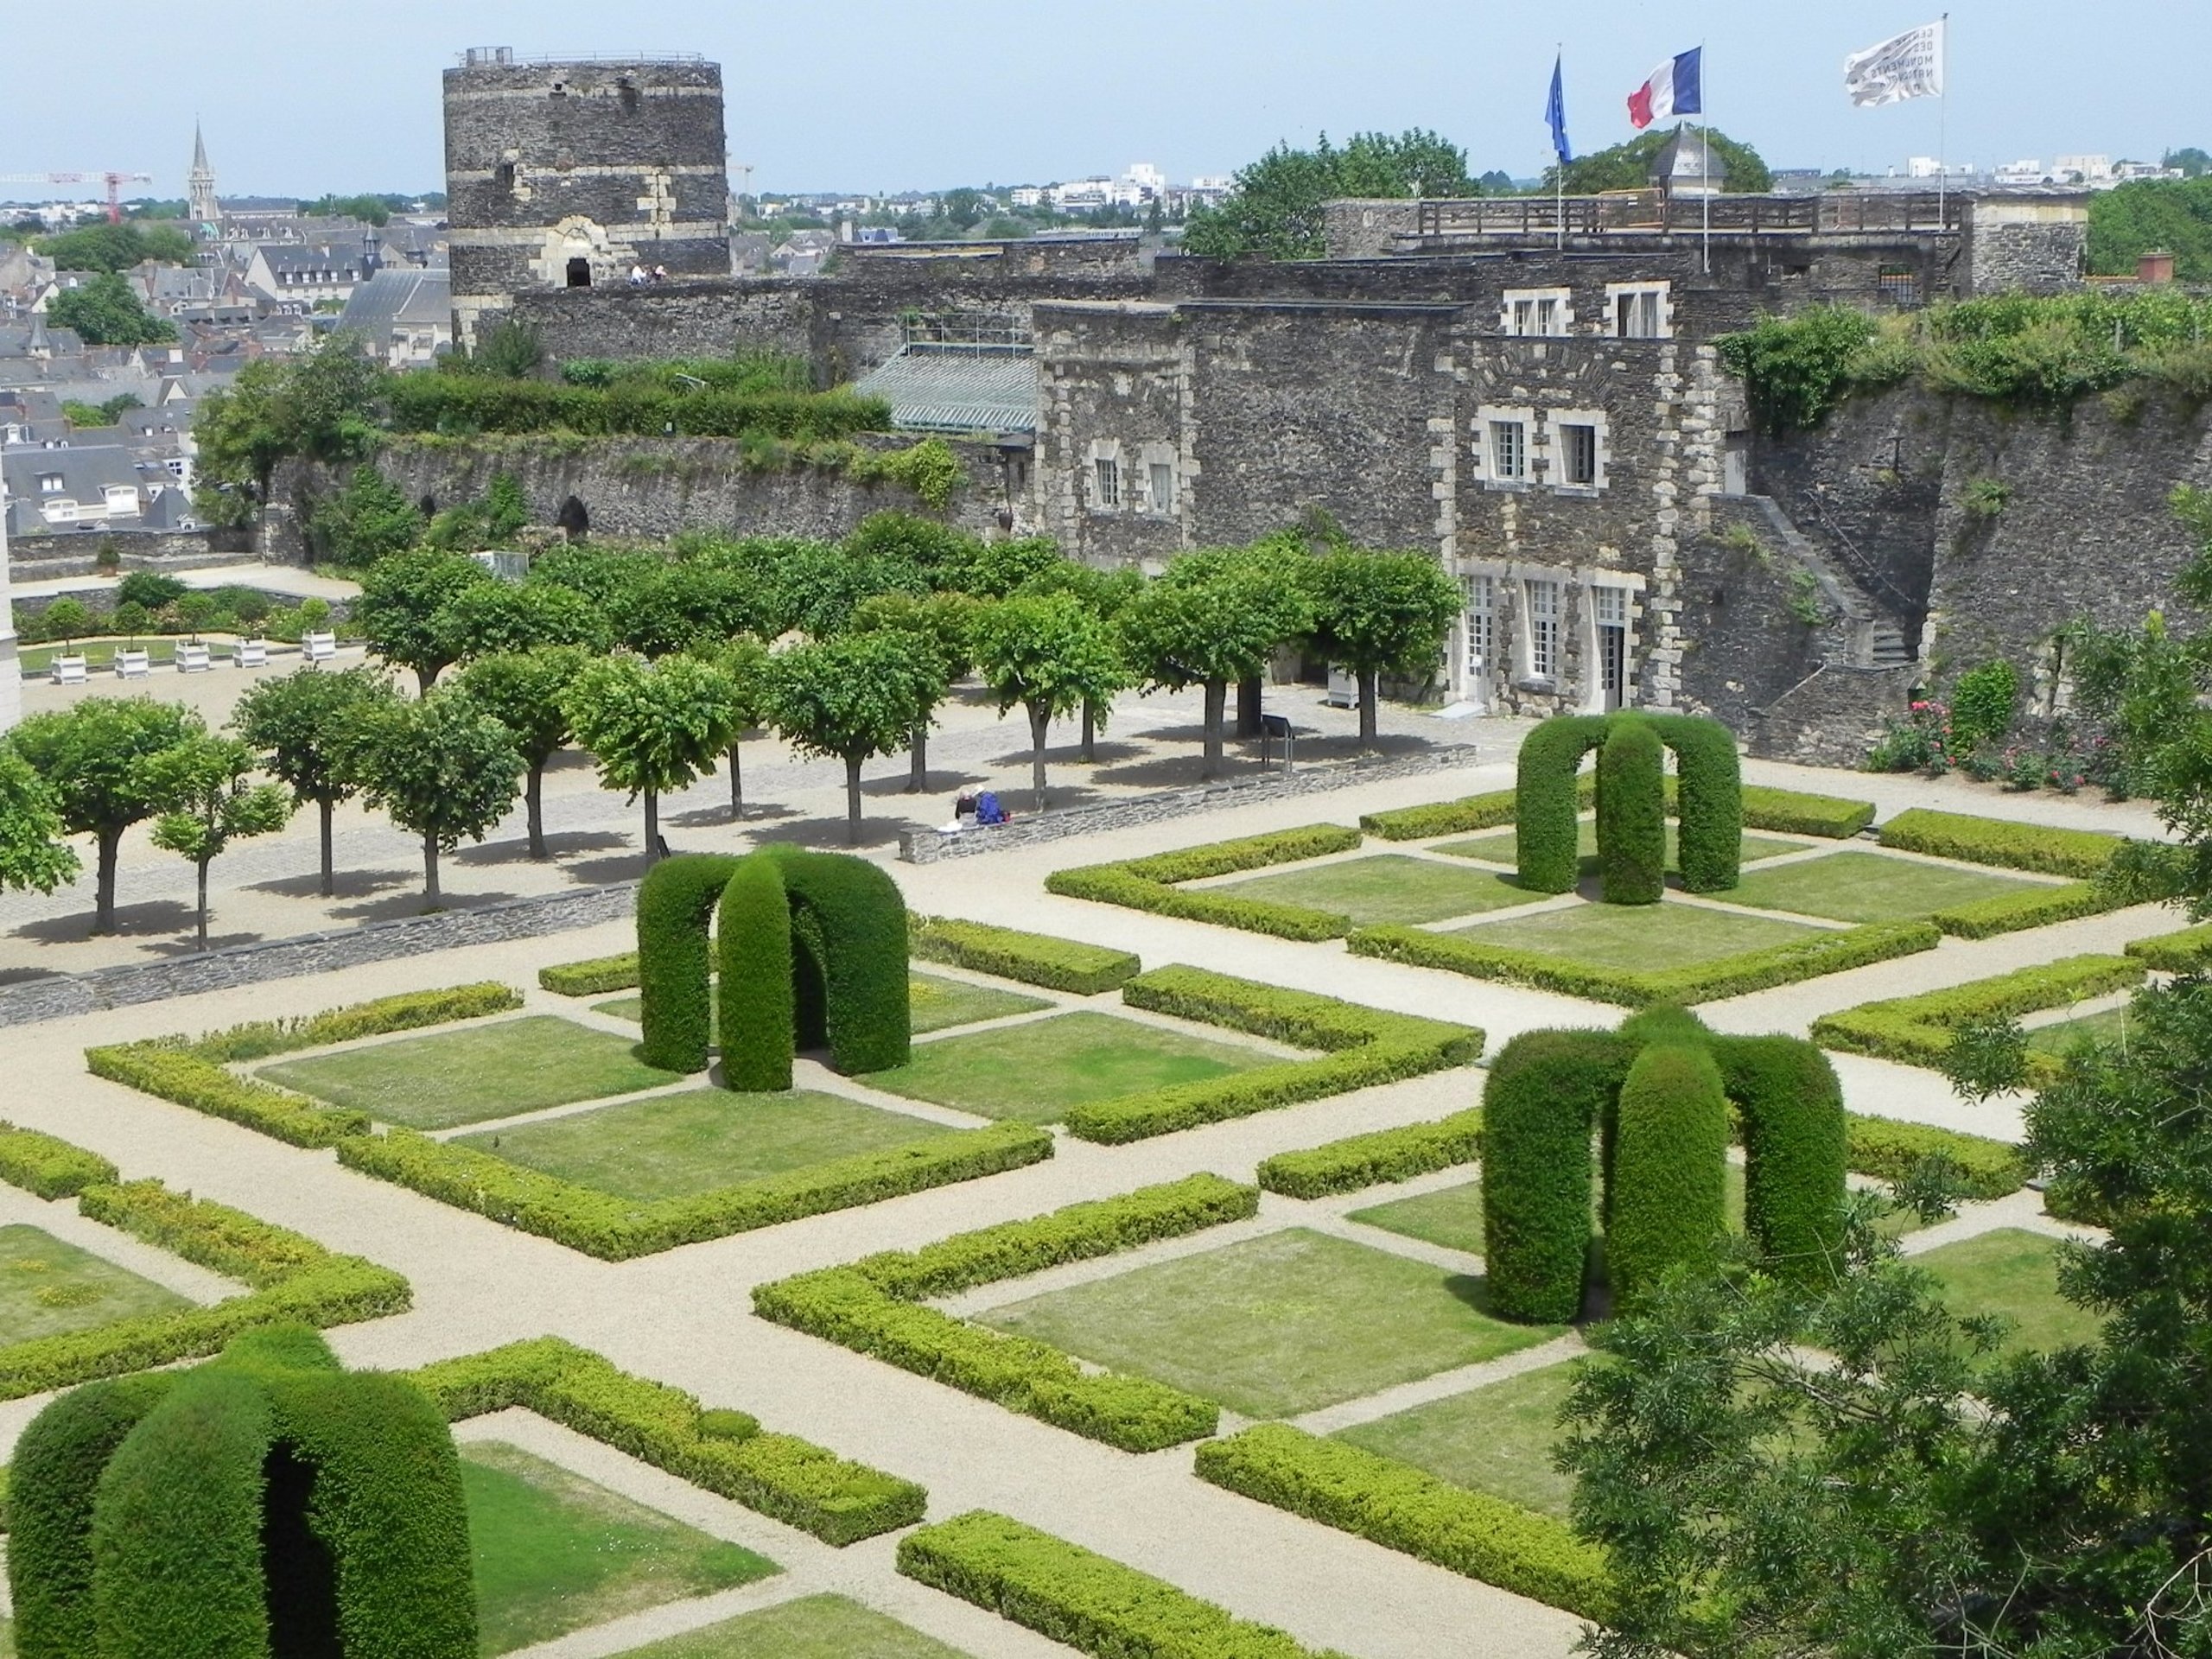
<svg viewBox="0 0 2212 1659"><path fill-rule="evenodd" d="M721 66L471 46L445 71L445 190L462 343L522 290L728 276Z"/></svg>

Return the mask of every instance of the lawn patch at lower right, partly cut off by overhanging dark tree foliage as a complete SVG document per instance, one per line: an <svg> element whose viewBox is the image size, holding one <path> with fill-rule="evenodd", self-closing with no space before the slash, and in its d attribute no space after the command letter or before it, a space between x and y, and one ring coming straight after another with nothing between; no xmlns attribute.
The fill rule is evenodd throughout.
<svg viewBox="0 0 2212 1659"><path fill-rule="evenodd" d="M1582 1360L1566 1360L1522 1371L1343 1429L1336 1438L1427 1469L1453 1486L1473 1486L1566 1520L1575 1478L1551 1467L1551 1449L1559 1438L1559 1407L1579 1369Z"/></svg>

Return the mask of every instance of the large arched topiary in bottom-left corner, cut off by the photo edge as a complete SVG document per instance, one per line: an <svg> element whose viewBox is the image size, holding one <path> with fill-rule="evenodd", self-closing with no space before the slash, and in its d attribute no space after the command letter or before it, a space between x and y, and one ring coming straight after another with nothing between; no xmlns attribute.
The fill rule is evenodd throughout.
<svg viewBox="0 0 2212 1659"><path fill-rule="evenodd" d="M471 1659L460 1460L438 1407L305 1327L91 1383L15 1449L20 1659Z"/></svg>

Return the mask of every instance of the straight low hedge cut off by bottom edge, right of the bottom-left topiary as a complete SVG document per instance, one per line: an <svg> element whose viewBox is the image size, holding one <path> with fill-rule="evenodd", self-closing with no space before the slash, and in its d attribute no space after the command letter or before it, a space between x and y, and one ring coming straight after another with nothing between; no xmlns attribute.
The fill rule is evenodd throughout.
<svg viewBox="0 0 2212 1659"><path fill-rule="evenodd" d="M907 1533L898 1571L1095 1659L1345 1659L989 1509Z"/></svg>

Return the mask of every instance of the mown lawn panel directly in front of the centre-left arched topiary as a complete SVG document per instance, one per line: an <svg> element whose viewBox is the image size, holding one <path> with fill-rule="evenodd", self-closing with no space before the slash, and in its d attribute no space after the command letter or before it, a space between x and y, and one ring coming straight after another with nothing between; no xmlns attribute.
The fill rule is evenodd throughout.
<svg viewBox="0 0 2212 1659"><path fill-rule="evenodd" d="M624 1199L675 1199L951 1133L838 1095L695 1088L460 1141Z"/></svg>

